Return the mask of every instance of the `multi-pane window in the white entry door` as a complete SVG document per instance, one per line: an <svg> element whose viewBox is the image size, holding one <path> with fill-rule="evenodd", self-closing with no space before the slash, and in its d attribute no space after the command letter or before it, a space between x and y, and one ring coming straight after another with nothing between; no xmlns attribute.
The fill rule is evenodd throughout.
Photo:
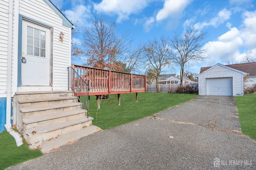
<svg viewBox="0 0 256 170"><path fill-rule="evenodd" d="M27 55L45 58L45 31L27 26Z"/></svg>

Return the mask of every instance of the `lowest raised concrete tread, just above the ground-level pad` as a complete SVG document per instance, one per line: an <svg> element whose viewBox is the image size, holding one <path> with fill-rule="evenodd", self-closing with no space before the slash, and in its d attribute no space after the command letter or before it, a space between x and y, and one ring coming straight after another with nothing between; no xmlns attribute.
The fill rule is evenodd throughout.
<svg viewBox="0 0 256 170"><path fill-rule="evenodd" d="M36 127L36 128L33 128L33 129L28 129L28 130L25 131L25 133L28 134L28 135L32 135L32 132L35 135L36 134L42 134L42 133L47 133L47 132L54 131L54 130L57 130L57 129L62 129L64 127L77 125L79 123L83 123L83 122L91 121L91 120L93 120L92 117L88 117L88 118L83 117L83 118L79 118L79 119L73 119L73 120L70 120L70 121L55 123L55 124L44 126L44 127Z"/></svg>

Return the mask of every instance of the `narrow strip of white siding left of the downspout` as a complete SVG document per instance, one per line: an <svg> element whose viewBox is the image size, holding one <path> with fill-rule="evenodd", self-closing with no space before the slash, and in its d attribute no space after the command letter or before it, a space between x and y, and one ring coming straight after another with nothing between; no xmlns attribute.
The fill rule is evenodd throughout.
<svg viewBox="0 0 256 170"><path fill-rule="evenodd" d="M9 1L2 0L0 6L0 98L6 98L7 89L8 11Z"/></svg>

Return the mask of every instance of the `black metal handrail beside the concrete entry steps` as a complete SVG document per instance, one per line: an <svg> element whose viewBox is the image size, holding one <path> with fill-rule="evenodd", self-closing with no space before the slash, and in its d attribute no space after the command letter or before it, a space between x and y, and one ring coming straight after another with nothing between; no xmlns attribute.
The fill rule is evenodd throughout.
<svg viewBox="0 0 256 170"><path fill-rule="evenodd" d="M87 110L86 115L89 117L90 87L71 66L68 67L68 90L70 89L74 92L79 102L82 103L84 109Z"/></svg>

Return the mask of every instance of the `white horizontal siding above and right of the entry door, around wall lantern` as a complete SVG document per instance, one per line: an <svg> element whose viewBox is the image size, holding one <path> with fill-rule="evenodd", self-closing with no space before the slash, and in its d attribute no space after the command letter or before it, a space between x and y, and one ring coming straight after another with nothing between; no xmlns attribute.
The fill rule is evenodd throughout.
<svg viewBox="0 0 256 170"><path fill-rule="evenodd" d="M68 90L71 28L62 25L62 18L44 0L20 0L19 13L53 27L53 90ZM59 41L60 32L64 33L64 41Z"/></svg>

